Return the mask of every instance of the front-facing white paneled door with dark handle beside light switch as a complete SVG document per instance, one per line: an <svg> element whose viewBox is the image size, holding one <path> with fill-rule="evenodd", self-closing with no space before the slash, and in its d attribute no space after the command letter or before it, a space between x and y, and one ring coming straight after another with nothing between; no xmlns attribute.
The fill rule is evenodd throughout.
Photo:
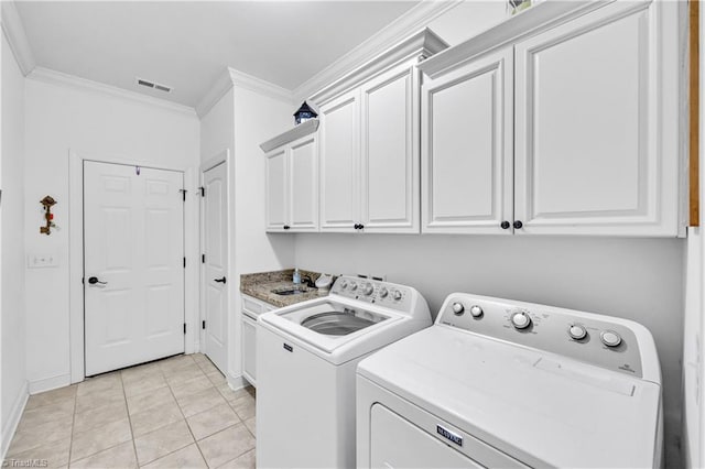
<svg viewBox="0 0 705 469"><path fill-rule="evenodd" d="M84 163L86 375L184 352L183 174Z"/></svg>

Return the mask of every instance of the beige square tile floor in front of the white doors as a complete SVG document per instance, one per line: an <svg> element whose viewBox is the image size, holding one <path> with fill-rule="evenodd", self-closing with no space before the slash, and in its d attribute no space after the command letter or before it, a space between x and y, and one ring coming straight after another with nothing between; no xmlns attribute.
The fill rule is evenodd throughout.
<svg viewBox="0 0 705 469"><path fill-rule="evenodd" d="M200 353L89 378L30 396L6 465L28 460L51 468L253 468L254 391L230 390Z"/></svg>

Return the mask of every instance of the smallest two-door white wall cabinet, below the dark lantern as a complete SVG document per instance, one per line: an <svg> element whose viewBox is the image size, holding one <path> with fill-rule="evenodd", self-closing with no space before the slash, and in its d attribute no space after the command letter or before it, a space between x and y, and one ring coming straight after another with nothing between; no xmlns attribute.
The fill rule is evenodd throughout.
<svg viewBox="0 0 705 469"><path fill-rule="evenodd" d="M315 133L267 155L267 231L318 231L318 143Z"/></svg>

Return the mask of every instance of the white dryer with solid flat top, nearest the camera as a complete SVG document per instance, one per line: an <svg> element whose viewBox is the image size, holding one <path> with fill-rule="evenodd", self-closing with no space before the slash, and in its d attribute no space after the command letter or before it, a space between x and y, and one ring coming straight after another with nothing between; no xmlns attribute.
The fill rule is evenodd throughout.
<svg viewBox="0 0 705 469"><path fill-rule="evenodd" d="M659 467L661 370L630 320L470 294L362 360L359 468Z"/></svg>

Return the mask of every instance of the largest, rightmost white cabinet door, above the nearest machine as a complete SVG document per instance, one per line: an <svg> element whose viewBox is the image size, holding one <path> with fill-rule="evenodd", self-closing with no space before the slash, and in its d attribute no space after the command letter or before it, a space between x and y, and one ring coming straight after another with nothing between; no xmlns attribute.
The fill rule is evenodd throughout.
<svg viewBox="0 0 705 469"><path fill-rule="evenodd" d="M615 2L517 45L518 233L676 234L675 3Z"/></svg>

